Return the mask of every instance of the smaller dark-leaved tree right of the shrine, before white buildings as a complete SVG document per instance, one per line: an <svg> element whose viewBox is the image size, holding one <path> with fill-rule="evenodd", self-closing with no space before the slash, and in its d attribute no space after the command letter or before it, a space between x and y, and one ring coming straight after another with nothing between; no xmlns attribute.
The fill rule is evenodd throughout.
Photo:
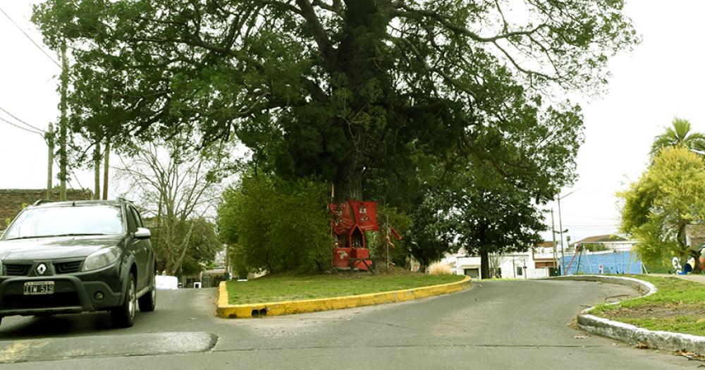
<svg viewBox="0 0 705 370"><path fill-rule="evenodd" d="M537 183L550 182L556 166L522 176L520 186L487 166L466 166L448 176L446 186L427 193L419 207L422 214L415 216L419 228L431 232L424 243L430 246L426 252L440 259L444 252L462 247L468 255L481 257L482 277L489 277L490 254L523 252L541 241L539 233L546 226L533 189L540 187Z"/></svg>

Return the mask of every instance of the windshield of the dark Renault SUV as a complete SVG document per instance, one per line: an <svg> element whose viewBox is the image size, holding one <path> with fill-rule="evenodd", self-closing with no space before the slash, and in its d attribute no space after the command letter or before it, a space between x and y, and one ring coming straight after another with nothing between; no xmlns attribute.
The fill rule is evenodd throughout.
<svg viewBox="0 0 705 370"><path fill-rule="evenodd" d="M59 235L116 235L123 232L120 206L49 206L25 209L4 240Z"/></svg>

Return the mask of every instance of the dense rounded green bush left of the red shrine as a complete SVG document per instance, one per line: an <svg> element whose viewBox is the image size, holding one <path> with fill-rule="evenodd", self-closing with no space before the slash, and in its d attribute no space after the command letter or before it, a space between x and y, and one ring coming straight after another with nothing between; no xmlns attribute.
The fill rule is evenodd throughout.
<svg viewBox="0 0 705 370"><path fill-rule="evenodd" d="M226 190L218 225L223 240L238 245L240 269L274 273L329 268L327 189L314 180L259 175Z"/></svg>

